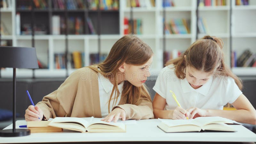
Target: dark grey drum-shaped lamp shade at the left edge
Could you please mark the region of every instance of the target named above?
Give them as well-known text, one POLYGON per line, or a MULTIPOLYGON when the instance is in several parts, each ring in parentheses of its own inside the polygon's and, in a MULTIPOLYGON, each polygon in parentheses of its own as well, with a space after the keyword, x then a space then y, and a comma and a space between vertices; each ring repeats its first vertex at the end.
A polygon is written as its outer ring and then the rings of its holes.
POLYGON ((38 68, 36 49, 33 47, 0 46, 0 67, 38 68))

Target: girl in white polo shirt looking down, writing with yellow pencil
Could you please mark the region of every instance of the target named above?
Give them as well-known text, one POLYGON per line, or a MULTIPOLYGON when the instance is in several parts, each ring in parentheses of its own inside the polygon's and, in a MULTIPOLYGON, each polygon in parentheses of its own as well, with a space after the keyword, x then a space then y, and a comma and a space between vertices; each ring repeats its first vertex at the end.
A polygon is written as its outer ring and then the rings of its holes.
POLYGON ((166 63, 153 87, 155 118, 221 116, 256 124, 256 110, 241 92, 241 80, 225 65, 222 48, 220 38, 204 36, 177 59, 166 63), (170 90, 181 107, 177 106, 170 90), (227 103, 236 110, 223 110, 227 103))

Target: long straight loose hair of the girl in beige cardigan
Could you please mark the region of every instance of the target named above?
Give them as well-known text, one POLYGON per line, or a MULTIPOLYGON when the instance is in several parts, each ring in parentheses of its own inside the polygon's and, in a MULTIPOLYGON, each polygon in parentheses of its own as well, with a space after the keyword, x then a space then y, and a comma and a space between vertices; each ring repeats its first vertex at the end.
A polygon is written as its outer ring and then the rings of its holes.
MULTIPOLYGON (((114 86, 108 101, 108 112, 110 112, 110 101, 112 99, 113 93, 115 92, 114 100, 117 100, 120 92, 118 90, 117 83, 117 73, 119 72, 119 67, 123 64, 131 65, 143 65, 145 64, 153 55, 152 49, 143 42, 140 38, 133 35, 126 35, 121 37, 112 46, 108 57, 101 63, 97 64, 97 68, 89 66, 89 68, 101 73, 108 79, 114 81, 114 86)), ((123 86, 123 91, 121 96, 127 97, 127 104, 136 104, 140 97, 146 97, 151 100, 145 85, 141 87, 136 87, 130 82, 125 81, 123 86)), ((114 105, 114 102, 113 102, 114 105)))

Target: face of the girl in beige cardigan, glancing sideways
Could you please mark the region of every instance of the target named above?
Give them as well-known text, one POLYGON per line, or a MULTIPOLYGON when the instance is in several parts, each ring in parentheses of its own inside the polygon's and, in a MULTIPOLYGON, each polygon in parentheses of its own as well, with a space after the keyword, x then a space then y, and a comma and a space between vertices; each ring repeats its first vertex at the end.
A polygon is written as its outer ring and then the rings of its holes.
POLYGON ((125 80, 130 82, 136 87, 142 86, 146 82, 148 76, 150 76, 150 68, 153 61, 153 56, 143 65, 135 66, 124 63, 125 80))

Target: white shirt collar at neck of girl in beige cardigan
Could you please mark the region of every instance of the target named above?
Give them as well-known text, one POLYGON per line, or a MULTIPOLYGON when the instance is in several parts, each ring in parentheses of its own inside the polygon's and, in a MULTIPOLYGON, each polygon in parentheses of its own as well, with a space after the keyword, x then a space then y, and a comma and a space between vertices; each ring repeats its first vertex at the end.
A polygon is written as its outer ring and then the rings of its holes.
MULTIPOLYGON (((105 76, 103 76, 100 73, 98 73, 98 74, 99 74, 98 81, 102 85, 102 87, 105 90, 105 92, 109 93, 110 91, 112 91, 114 85, 109 81, 108 78, 106 78, 105 76)), ((120 84, 118 84, 117 87, 118 87, 119 92, 121 92, 123 90, 123 86, 124 86, 124 81, 121 82, 120 84)))

